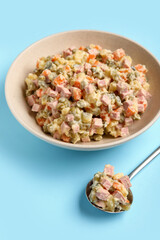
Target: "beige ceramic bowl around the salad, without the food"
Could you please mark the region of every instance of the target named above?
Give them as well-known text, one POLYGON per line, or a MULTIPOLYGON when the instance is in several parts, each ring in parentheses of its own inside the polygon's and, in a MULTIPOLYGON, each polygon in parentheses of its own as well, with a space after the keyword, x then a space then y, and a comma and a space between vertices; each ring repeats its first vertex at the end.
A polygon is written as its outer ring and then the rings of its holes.
POLYGON ((15 118, 31 133, 37 137, 64 148, 76 150, 98 150, 110 148, 138 136, 147 130, 160 115, 160 64, 156 58, 139 44, 119 35, 101 31, 78 30, 54 34, 46 37, 24 50, 11 65, 5 85, 5 94, 8 106, 15 118), (147 77, 151 85, 152 99, 142 119, 135 121, 130 127, 130 135, 127 137, 106 137, 99 142, 90 143, 65 143, 53 139, 43 133, 37 125, 34 115, 31 113, 24 97, 24 79, 35 68, 36 60, 42 56, 59 53, 70 46, 99 44, 103 48, 115 50, 123 48, 133 59, 133 63, 145 64, 148 68, 147 77))

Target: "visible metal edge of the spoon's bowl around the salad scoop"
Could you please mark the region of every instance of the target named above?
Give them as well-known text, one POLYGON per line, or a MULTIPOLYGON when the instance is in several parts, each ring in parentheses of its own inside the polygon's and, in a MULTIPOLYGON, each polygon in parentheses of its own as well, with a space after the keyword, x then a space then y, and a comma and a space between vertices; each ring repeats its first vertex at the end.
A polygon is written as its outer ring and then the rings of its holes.
MULTIPOLYGON (((90 204, 92 204, 92 206, 93 207, 95 207, 95 208, 97 208, 97 209, 99 209, 99 210, 101 210, 101 211, 103 211, 103 212, 107 212, 107 213, 121 213, 121 212, 125 212, 125 211, 116 211, 116 212, 111 212, 111 211, 107 211, 107 210, 104 210, 103 208, 101 208, 101 207, 98 207, 98 206, 96 206, 94 203, 92 203, 91 201, 90 201, 90 199, 89 199, 89 194, 90 194, 90 192, 91 192, 91 190, 92 190, 92 184, 93 184, 93 179, 91 180, 91 181, 89 181, 89 183, 87 184, 87 187, 86 187, 86 197, 87 197, 87 199, 88 199, 88 201, 90 202, 90 204)), ((127 196, 127 198, 128 198, 128 200, 130 201, 130 204, 132 204, 132 202, 133 202, 133 194, 132 194, 132 191, 130 190, 130 188, 129 188, 129 190, 128 190, 128 196, 127 196)))

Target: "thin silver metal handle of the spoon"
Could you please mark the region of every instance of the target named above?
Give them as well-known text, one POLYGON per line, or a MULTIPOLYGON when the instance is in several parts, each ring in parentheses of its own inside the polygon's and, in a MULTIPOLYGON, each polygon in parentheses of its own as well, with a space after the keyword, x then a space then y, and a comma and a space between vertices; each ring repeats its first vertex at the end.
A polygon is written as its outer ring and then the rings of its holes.
POLYGON ((158 147, 149 157, 147 157, 141 164, 138 165, 128 176, 130 180, 139 173, 148 163, 150 163, 158 154, 160 154, 160 147, 158 147))

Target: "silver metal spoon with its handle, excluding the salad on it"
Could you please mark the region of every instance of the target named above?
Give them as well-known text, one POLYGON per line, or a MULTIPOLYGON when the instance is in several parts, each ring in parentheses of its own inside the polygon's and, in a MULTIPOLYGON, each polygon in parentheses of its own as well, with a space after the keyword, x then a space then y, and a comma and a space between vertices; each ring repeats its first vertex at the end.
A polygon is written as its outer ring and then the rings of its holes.
MULTIPOLYGON (((151 153, 151 155, 149 155, 149 157, 147 157, 141 164, 138 165, 138 167, 136 167, 129 175, 129 179, 131 180, 135 175, 137 175, 137 173, 139 173, 148 163, 150 163, 158 154, 160 154, 160 147, 158 147, 153 153, 151 153)), ((92 203, 89 199, 89 194, 92 190, 91 186, 93 183, 93 179, 87 184, 86 187, 86 197, 88 199, 88 201, 92 204, 92 206, 98 208, 99 210, 103 211, 103 212, 107 212, 107 213, 121 213, 124 212, 123 210, 121 211, 116 211, 116 212, 110 212, 107 210, 103 210, 101 207, 96 206, 94 203, 92 203)), ((132 204, 133 202, 133 194, 132 191, 129 189, 128 191, 128 196, 127 196, 128 200, 130 201, 130 203, 132 204)))

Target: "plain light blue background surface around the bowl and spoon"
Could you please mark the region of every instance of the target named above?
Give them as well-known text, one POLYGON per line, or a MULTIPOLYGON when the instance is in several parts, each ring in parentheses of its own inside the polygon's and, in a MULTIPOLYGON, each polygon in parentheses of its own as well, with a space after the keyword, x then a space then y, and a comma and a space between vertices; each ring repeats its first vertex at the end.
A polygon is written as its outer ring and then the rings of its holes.
POLYGON ((109 150, 77 152, 49 145, 12 116, 7 71, 31 43, 73 29, 131 38, 160 59, 157 1, 3 1, 0 14, 0 240, 150 239, 159 234, 160 156, 132 181, 130 211, 105 214, 84 190, 106 163, 128 174, 159 145, 160 120, 141 136, 109 150), (112 3, 113 2, 113 3, 112 3))

